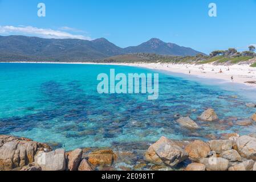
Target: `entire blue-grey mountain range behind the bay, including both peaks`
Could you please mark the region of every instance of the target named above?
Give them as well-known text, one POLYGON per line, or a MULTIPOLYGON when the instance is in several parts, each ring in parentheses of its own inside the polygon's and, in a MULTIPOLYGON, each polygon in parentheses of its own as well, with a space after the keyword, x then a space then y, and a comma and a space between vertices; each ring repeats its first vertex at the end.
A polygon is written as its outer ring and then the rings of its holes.
POLYGON ((136 47, 120 48, 104 38, 89 41, 0 36, 0 61, 90 61, 128 53, 185 56, 200 52, 159 39, 151 39, 136 47))

